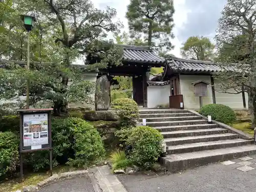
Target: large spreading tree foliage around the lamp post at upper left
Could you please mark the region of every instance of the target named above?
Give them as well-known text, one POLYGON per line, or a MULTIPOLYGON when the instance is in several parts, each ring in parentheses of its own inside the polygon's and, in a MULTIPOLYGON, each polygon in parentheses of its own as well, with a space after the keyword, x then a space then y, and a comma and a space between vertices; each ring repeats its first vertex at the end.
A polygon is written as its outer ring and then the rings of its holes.
MULTIPOLYGON (((67 112, 70 102, 90 102, 94 84, 84 80, 83 70, 105 68, 109 62, 120 63, 121 51, 112 40, 106 40, 108 32, 117 32, 121 26, 112 22, 116 15, 114 9, 98 10, 84 0, 17 1, 6 7, 8 9, 0 8, 0 15, 10 9, 7 12, 12 17, 0 18, 5 24, 1 28, 4 31, 0 29, 6 46, 0 48, 2 58, 22 60, 25 61, 21 62, 23 66, 26 64, 27 37, 19 14, 35 15, 37 22, 30 32, 31 70, 10 63, 12 73, 0 71, 4 99, 25 96, 29 80, 30 105, 47 102, 53 106, 55 114, 67 112), (96 65, 85 65, 83 70, 72 65, 78 57, 90 59, 93 55, 99 57, 96 65)), ((23 100, 18 104, 25 106, 23 100)))

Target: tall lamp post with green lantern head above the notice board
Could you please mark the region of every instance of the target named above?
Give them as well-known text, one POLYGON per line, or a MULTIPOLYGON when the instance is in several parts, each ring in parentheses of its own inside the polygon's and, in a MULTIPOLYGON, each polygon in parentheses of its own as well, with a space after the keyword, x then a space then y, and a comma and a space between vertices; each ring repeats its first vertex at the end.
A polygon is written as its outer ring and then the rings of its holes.
MULTIPOLYGON (((28 32, 28 42, 27 42, 27 70, 29 70, 29 62, 30 62, 30 50, 29 50, 29 32, 33 29, 35 17, 29 15, 20 15, 20 18, 23 20, 23 24, 25 29, 28 32)), ((26 89, 26 103, 27 109, 29 109, 29 79, 27 79, 27 89, 26 89)))

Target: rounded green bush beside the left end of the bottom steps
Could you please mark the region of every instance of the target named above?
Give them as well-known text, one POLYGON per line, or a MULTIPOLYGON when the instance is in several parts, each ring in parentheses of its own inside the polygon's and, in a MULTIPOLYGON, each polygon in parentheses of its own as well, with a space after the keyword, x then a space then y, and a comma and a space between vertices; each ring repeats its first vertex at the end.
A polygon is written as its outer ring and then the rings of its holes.
POLYGON ((130 159, 143 168, 150 167, 161 154, 163 136, 149 126, 139 126, 133 129, 126 144, 132 145, 130 159))

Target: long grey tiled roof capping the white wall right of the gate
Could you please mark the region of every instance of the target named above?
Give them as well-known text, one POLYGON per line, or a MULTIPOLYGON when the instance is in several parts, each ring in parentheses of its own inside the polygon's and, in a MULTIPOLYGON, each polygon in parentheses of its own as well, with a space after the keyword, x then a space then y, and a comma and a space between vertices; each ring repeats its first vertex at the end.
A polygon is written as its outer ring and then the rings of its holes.
MULTIPOLYGON (((214 73, 224 70, 224 67, 220 63, 214 63, 211 61, 182 59, 177 57, 171 57, 168 60, 170 69, 178 72, 194 72, 194 73, 214 73)), ((226 66, 225 70, 234 70, 232 66, 226 66)))

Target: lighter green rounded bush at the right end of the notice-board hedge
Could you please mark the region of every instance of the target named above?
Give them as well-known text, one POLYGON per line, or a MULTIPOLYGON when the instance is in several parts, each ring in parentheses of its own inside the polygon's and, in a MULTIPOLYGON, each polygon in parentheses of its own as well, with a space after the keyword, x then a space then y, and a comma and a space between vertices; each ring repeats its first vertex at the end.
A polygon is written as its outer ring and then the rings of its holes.
POLYGON ((71 118, 69 127, 74 131, 75 157, 70 158, 69 164, 73 166, 86 166, 97 162, 105 156, 104 145, 95 127, 89 122, 79 118, 71 118))

